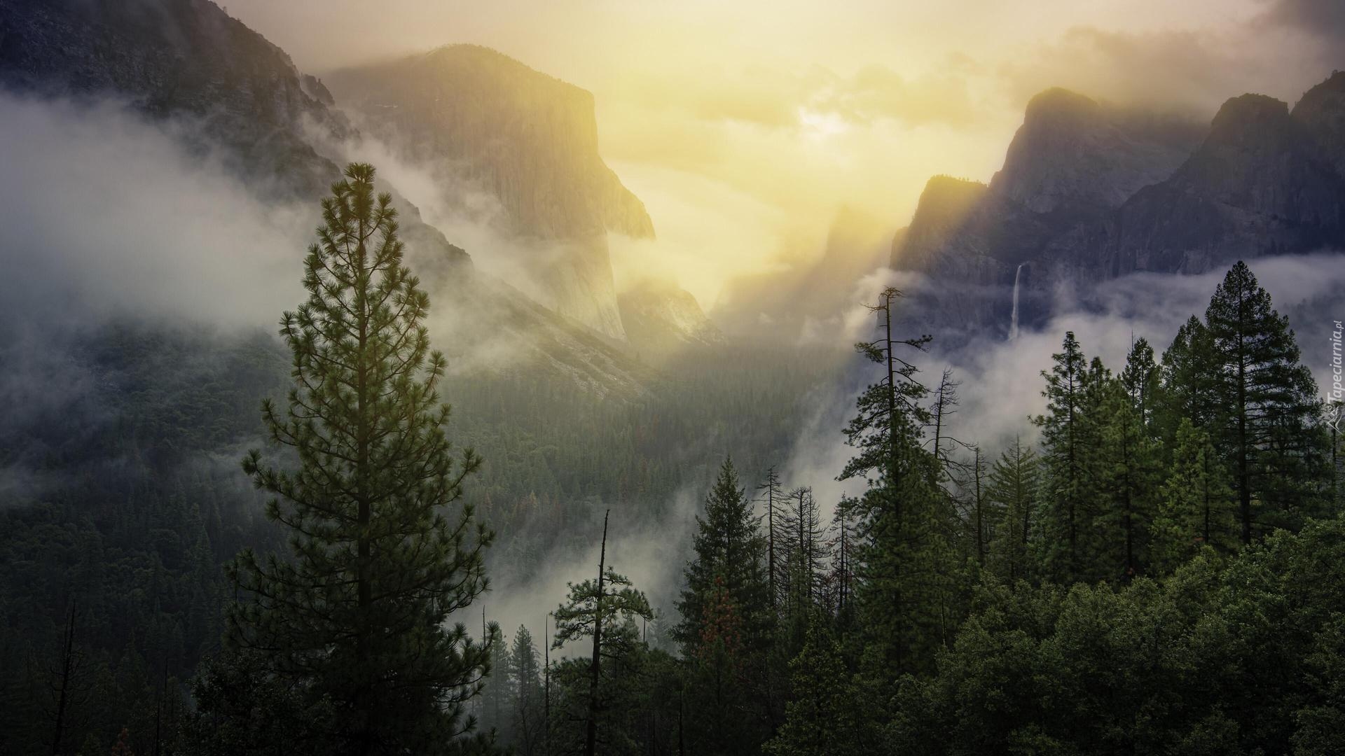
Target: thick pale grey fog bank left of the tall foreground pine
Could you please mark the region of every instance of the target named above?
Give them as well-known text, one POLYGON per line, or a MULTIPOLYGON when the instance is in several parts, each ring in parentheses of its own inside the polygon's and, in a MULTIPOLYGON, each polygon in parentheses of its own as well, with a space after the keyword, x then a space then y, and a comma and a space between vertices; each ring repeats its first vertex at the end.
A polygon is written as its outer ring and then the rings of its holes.
POLYGON ((316 214, 253 199, 175 128, 0 96, 0 308, 269 326, 299 301, 316 214))

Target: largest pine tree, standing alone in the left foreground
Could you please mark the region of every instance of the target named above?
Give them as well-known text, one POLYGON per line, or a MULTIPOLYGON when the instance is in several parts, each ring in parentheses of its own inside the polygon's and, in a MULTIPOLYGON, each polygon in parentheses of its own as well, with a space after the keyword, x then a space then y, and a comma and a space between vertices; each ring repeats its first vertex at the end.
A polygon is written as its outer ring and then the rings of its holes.
POLYGON ((243 460, 274 496, 266 515, 291 531, 292 558, 239 554, 230 574, 246 600, 229 639, 335 706, 338 752, 449 752, 473 726, 464 705, 488 666, 488 650, 448 624, 486 589, 491 534, 459 503, 479 459, 468 449, 455 464, 444 434, 445 362, 391 198, 375 196, 370 165, 344 175, 304 261, 308 301, 281 320, 288 410, 264 402, 299 467, 243 460))

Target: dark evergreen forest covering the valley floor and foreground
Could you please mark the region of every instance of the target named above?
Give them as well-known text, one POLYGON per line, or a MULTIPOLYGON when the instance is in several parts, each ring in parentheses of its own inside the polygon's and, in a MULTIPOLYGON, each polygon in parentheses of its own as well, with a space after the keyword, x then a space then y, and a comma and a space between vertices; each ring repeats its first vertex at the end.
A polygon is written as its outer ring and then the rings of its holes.
POLYGON ((621 404, 447 377, 373 187, 323 202, 282 343, 73 335, 83 404, 5 425, 0 461, 69 480, 0 510, 0 751, 1345 752, 1338 408, 1245 264, 1161 351, 1064 334, 1006 448, 950 430, 884 291, 827 502, 780 465, 833 354, 621 404), (659 607, 609 533, 689 479, 659 607), (594 547, 542 632, 482 616, 594 547))

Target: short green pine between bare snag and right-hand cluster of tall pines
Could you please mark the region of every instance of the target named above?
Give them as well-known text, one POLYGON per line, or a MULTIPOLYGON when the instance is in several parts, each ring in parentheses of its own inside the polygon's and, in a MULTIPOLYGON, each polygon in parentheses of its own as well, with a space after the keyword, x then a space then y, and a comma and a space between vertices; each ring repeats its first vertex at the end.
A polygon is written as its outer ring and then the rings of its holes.
POLYGON ((990 468, 987 498, 1003 513, 1001 526, 990 542, 990 566, 1002 580, 1015 582, 1032 577, 1029 538, 1037 500, 1040 463, 1032 447, 1014 437, 990 468))

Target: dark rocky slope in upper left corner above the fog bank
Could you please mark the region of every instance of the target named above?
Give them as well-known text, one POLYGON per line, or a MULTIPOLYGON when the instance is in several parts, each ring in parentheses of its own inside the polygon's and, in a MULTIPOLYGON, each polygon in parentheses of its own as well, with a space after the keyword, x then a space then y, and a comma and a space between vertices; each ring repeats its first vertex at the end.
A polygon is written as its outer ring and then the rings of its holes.
POLYGON ((0 0, 0 82, 35 96, 114 96, 152 117, 199 120, 239 174, 317 195, 339 175, 303 137, 350 133, 331 94, 207 0, 0 0))

